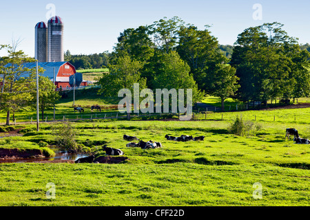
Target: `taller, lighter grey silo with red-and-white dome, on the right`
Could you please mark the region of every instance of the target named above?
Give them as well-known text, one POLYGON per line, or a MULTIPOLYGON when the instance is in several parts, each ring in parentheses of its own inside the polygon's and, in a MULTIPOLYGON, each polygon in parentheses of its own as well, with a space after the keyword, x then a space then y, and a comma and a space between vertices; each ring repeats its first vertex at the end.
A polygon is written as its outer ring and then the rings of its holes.
POLYGON ((63 62, 63 22, 58 16, 48 20, 48 62, 63 62))

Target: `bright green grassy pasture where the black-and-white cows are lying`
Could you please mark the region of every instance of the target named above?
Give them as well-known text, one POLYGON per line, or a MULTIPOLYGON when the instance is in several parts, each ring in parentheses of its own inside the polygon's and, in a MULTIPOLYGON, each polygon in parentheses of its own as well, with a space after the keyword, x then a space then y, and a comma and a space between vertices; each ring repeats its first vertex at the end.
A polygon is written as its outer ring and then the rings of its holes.
MULTIPOLYGON (((236 114, 227 113, 223 120, 222 113, 209 113, 208 120, 195 121, 75 122, 76 141, 96 157, 104 154, 105 143, 120 148, 128 159, 121 164, 0 164, 0 205, 309 206, 309 145, 285 140, 285 128, 309 135, 310 109, 244 111, 244 120, 257 115, 261 127, 249 137, 227 131, 236 114), (292 120, 296 114, 302 118, 292 120), (161 142, 163 148, 127 148, 123 134, 161 142), (172 142, 166 134, 205 135, 205 141, 172 142), (55 184, 56 199, 45 196, 49 182, 55 184), (262 186, 262 199, 254 199, 256 183, 262 186)), ((41 124, 39 133, 30 129, 23 137, 6 137, 1 143, 53 144, 54 126, 61 124, 41 124)))

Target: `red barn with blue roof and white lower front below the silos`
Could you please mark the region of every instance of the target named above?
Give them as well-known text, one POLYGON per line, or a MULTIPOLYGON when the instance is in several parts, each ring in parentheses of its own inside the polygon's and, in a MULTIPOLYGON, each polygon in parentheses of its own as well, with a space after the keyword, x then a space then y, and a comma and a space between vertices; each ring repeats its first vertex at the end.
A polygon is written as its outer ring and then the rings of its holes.
MULTIPOLYGON (((45 70, 42 76, 54 81, 58 90, 71 89, 74 78, 76 87, 87 86, 87 81, 83 80, 82 74, 76 73, 75 67, 69 62, 39 62, 38 66, 45 70)), ((32 69, 37 67, 37 63, 25 63, 23 67, 32 69)), ((27 77, 27 74, 24 74, 23 77, 27 77)))

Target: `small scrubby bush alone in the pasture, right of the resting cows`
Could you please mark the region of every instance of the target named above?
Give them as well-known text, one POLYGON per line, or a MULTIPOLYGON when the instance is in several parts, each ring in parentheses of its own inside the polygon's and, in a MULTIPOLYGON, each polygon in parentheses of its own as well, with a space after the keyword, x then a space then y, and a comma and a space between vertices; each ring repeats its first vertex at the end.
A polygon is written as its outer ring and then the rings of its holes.
POLYGON ((260 129, 260 124, 255 124, 251 120, 243 121, 242 118, 238 116, 234 123, 230 124, 228 127, 229 133, 239 136, 254 135, 260 129))

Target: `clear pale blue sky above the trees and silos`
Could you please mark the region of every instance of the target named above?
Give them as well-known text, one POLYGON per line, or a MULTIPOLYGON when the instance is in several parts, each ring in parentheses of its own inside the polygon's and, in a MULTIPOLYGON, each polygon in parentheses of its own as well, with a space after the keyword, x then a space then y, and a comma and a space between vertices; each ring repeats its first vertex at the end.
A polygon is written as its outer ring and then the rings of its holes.
MULTIPOLYGON (((112 52, 123 30, 174 16, 199 29, 211 25, 211 34, 223 45, 234 44, 246 28, 273 21, 283 23, 289 36, 297 37, 299 43, 310 43, 309 0, 0 0, 0 44, 20 38, 18 49, 34 56, 34 26, 48 21, 49 3, 63 19, 64 50, 71 54, 112 52), (252 17, 255 3, 262 5, 262 20, 252 17)), ((0 56, 5 54, 0 51, 0 56)))

